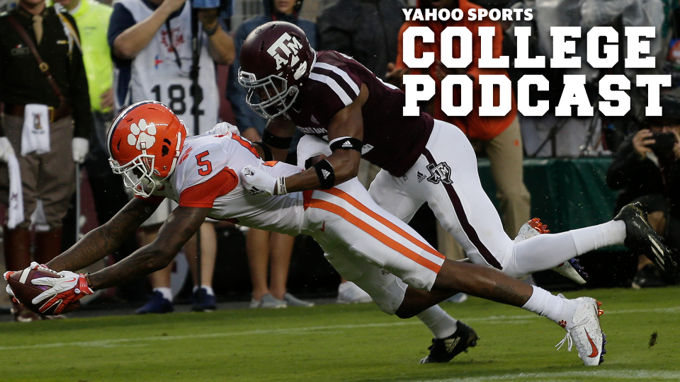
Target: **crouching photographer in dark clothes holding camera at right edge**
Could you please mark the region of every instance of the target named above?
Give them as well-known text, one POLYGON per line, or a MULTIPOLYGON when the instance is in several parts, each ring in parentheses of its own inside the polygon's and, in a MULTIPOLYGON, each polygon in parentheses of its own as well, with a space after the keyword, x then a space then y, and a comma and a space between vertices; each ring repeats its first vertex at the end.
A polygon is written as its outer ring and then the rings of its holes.
MULTIPOLYGON (((680 98, 661 95, 662 117, 646 117, 645 126, 630 135, 614 155, 607 185, 621 190, 614 214, 640 202, 652 227, 669 248, 680 248, 680 98)), ((640 255, 633 288, 664 287, 657 267, 640 255)))

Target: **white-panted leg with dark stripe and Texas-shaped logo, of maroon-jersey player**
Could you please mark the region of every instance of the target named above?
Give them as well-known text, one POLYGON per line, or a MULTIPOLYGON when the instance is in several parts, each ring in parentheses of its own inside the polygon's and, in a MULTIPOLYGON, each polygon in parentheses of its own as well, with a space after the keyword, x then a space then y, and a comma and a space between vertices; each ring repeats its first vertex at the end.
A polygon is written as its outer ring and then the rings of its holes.
MULTIPOLYGON (((463 246, 472 262, 492 265, 513 277, 554 267, 589 250, 622 244, 626 237, 623 221, 609 221, 513 243, 482 189, 472 147, 458 128, 446 122, 435 122, 424 156, 407 173, 409 180, 416 171, 429 174, 423 182, 426 184, 404 180, 401 186, 427 199, 442 226, 463 246)), ((641 223, 640 216, 629 215, 625 219, 633 221, 630 226, 641 223)))

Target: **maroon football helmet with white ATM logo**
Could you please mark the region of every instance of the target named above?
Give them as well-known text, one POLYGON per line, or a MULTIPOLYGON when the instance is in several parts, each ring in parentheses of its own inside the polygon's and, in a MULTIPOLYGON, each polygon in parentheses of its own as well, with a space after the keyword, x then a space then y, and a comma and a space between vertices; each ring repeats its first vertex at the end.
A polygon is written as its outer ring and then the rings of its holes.
POLYGON ((253 30, 241 48, 239 83, 246 103, 265 118, 278 117, 295 102, 316 54, 302 29, 271 21, 253 30))

